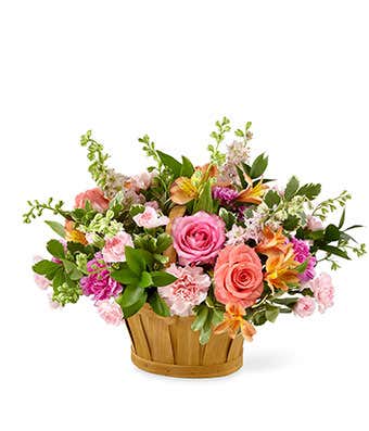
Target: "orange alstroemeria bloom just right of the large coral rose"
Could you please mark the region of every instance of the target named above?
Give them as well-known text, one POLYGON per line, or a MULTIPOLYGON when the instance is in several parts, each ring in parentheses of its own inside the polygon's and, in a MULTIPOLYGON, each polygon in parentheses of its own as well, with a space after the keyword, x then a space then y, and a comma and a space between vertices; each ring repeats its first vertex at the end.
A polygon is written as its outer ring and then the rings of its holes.
POLYGON ((298 283, 296 268, 300 265, 301 263, 294 259, 293 246, 290 243, 285 253, 277 252, 268 256, 264 279, 272 292, 275 292, 275 289, 287 291, 290 284, 298 283))

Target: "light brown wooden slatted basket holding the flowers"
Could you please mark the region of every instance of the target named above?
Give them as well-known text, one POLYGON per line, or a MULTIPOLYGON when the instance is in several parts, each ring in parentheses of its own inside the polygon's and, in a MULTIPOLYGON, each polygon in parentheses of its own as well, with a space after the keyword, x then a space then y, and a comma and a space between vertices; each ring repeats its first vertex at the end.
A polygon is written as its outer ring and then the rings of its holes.
POLYGON ((242 367, 243 338, 227 333, 199 343, 191 330, 193 317, 161 317, 149 304, 126 319, 132 342, 132 363, 144 371, 171 377, 218 377, 242 367))

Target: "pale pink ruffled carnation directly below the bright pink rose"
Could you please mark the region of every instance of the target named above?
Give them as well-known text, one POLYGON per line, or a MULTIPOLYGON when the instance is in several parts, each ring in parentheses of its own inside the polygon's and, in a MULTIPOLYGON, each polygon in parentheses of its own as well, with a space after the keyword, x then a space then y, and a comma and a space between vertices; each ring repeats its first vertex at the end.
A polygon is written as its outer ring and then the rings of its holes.
POLYGON ((167 272, 177 277, 177 280, 164 288, 157 288, 158 294, 168 304, 171 315, 190 316, 192 307, 206 299, 211 278, 199 266, 182 268, 171 264, 167 272))

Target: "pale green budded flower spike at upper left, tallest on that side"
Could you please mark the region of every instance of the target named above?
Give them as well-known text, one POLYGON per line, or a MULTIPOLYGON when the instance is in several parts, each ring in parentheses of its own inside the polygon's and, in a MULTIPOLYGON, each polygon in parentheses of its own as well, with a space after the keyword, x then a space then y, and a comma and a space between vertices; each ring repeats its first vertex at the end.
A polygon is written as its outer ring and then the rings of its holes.
POLYGON ((92 139, 91 135, 91 130, 87 130, 87 132, 80 137, 80 144, 82 147, 87 147, 87 159, 90 161, 90 165, 88 167, 89 173, 97 185, 104 188, 107 175, 107 166, 105 162, 110 155, 104 153, 104 147, 92 139))

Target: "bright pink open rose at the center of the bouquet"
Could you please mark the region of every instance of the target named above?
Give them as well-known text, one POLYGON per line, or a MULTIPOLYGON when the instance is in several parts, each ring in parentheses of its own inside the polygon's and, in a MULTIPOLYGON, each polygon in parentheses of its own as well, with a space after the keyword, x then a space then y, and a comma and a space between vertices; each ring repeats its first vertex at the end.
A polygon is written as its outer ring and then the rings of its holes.
POLYGON ((175 218, 171 236, 180 265, 213 263, 226 241, 225 223, 215 214, 200 211, 175 218))

